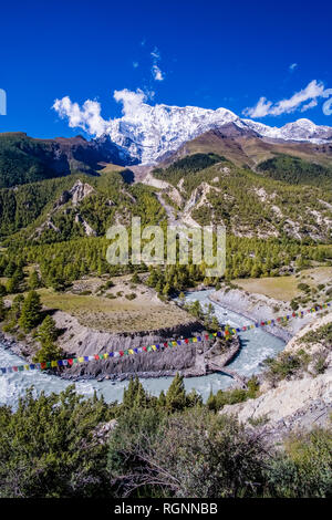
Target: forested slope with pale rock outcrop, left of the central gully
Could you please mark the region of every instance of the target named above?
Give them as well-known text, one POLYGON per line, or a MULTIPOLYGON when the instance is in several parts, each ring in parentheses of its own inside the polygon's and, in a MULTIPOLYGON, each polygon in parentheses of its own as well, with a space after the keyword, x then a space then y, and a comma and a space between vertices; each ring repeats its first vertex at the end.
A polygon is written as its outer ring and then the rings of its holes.
POLYGON ((0 189, 0 238, 6 243, 105 236, 112 223, 129 225, 132 215, 148 223, 165 218, 151 187, 128 184, 126 170, 111 166, 100 176, 77 173, 0 189))

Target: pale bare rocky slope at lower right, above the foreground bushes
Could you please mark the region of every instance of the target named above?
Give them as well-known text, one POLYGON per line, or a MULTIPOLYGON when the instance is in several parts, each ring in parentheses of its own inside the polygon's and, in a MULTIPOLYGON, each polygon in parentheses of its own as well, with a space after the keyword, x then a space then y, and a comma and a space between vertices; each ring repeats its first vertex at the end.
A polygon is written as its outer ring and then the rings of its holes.
MULTIPOLYGON (((289 355, 304 351, 311 355, 325 355, 325 371, 313 375, 309 364, 302 377, 281 381, 276 388, 261 386, 262 394, 237 405, 228 405, 221 414, 235 414, 241 423, 266 424, 263 428, 271 438, 280 438, 290 431, 312 429, 314 426, 331 426, 332 414, 332 344, 331 341, 311 342, 308 333, 318 333, 332 323, 332 314, 319 318, 304 326, 286 346, 289 355)), ((319 337, 319 336, 318 336, 319 337)))

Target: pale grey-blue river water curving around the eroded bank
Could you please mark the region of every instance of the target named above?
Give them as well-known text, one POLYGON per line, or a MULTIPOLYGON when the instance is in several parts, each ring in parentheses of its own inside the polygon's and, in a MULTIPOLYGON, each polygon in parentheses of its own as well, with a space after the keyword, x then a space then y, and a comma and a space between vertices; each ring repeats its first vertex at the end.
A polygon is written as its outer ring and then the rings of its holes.
MULTIPOLYGON (((200 303, 204 305, 209 302, 209 293, 210 291, 196 291, 194 293, 190 292, 190 294, 188 294, 186 299, 187 301, 199 300, 200 303)), ((224 313, 220 312, 219 306, 215 306, 216 316, 218 318, 219 323, 225 323, 224 313)), ((231 315, 231 313, 229 313, 228 318, 231 318, 234 326, 242 326, 246 323, 246 319, 238 314, 231 315)), ((68 322, 66 325, 70 326, 70 322, 68 322)), ((73 330, 69 330, 66 333, 68 337, 70 337, 72 333, 73 330)), ((279 340, 276 336, 267 333, 263 329, 240 332, 239 339, 241 341, 241 349, 239 350, 237 355, 232 360, 230 360, 229 364, 227 365, 227 368, 236 372, 246 379, 252 377, 252 375, 257 375, 258 377, 260 377, 260 374, 262 373, 261 362, 267 357, 274 357, 278 352, 281 352, 284 349, 284 342, 282 342, 282 340, 279 340)), ((81 339, 76 340, 81 341, 81 339)), ((76 340, 75 337, 72 337, 70 340, 72 342, 72 346, 75 345, 76 340)), ((94 337, 90 337, 90 340, 94 340, 94 337)), ((12 352, 11 347, 13 346, 13 339, 11 337, 9 339, 9 341, 10 344, 7 344, 7 350, 2 349, 0 345, 0 366, 14 366, 20 364, 27 364, 27 358, 22 360, 22 357, 18 357, 18 355, 12 352)), ((145 344, 148 345, 154 343, 148 342, 145 344)), ((100 346, 101 345, 102 343, 100 344, 100 346)), ((200 343, 194 343, 194 345, 197 345, 197 347, 199 347, 200 343)), ((173 351, 176 349, 183 350, 183 352, 187 351, 188 346, 189 345, 172 347, 169 349, 169 355, 173 356, 173 351)), ((160 354, 162 353, 159 352, 149 352, 142 355, 145 355, 147 360, 151 360, 152 357, 157 358, 160 354)), ((127 362, 128 360, 133 360, 134 357, 134 355, 125 356, 127 362)), ((132 366, 129 366, 129 370, 132 370, 132 366)), ((146 371, 139 371, 139 375, 143 375, 141 382, 144 388, 152 395, 158 396, 162 391, 167 392, 169 385, 172 384, 173 375, 167 376, 167 372, 164 372, 164 374, 166 374, 165 376, 162 376, 162 373, 159 374, 159 377, 155 377, 155 371, 151 371, 149 368, 147 368, 146 371), (142 372, 145 373, 142 374, 142 372)), ((10 406, 17 406, 19 397, 23 396, 25 391, 32 385, 34 386, 37 394, 40 394, 41 392, 50 394, 51 392, 59 393, 62 389, 66 388, 70 384, 75 384, 76 391, 81 395, 92 396, 94 392, 97 392, 98 395, 104 396, 107 403, 113 403, 114 401, 121 402, 123 398, 123 391, 127 385, 127 376, 132 375, 132 372, 127 373, 126 375, 115 374, 116 379, 110 381, 111 374, 98 374, 97 376, 87 374, 73 374, 73 377, 71 379, 64 379, 59 375, 55 376, 54 374, 50 372, 46 373, 45 371, 10 372, 3 374, 0 377, 0 403, 8 404, 10 406), (120 381, 123 377, 126 378, 120 381)), ((187 377, 185 377, 184 383, 187 392, 191 392, 195 389, 196 392, 198 392, 199 395, 201 395, 205 402, 208 399, 211 392, 216 394, 218 391, 226 391, 231 388, 235 383, 237 385, 239 384, 238 382, 235 382, 234 378, 229 376, 229 374, 226 374, 226 371, 216 371, 214 373, 209 373, 208 375, 198 377, 195 377, 194 374, 193 376, 187 374, 187 377)))

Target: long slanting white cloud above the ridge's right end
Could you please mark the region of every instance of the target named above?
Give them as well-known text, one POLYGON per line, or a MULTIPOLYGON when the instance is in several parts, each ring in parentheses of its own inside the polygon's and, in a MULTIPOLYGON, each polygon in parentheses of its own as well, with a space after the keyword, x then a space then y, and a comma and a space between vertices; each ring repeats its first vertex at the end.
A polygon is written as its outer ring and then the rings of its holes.
POLYGON ((247 107, 242 111, 242 114, 250 117, 266 117, 267 115, 281 115, 290 114, 297 110, 302 112, 317 106, 318 97, 325 97, 325 87, 323 83, 319 83, 315 80, 310 82, 305 89, 302 89, 299 92, 295 92, 288 100, 281 100, 277 103, 268 101, 266 97, 260 97, 258 103, 252 107, 247 107), (302 103, 307 103, 302 105, 302 103), (301 106, 302 105, 302 106, 301 106))

